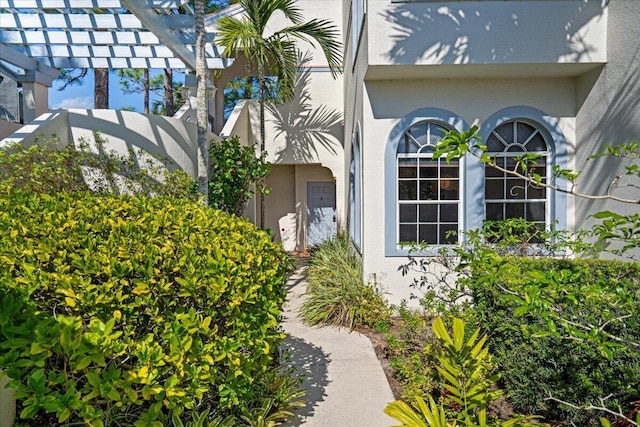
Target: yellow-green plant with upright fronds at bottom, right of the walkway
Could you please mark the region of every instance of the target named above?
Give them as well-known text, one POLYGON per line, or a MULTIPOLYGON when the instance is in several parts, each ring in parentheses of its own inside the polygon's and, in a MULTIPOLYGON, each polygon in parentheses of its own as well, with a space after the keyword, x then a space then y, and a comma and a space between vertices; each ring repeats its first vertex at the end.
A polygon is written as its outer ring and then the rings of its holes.
POLYGON ((489 404, 503 392, 494 388, 498 376, 491 374, 492 356, 484 346, 486 335, 478 338, 480 329, 476 329, 465 340, 464 321, 459 318, 453 319, 453 335, 449 335, 440 317, 434 320, 432 328, 442 346, 437 370, 443 379, 440 383, 443 396, 440 404, 431 396, 429 404, 416 397, 415 409, 402 401, 389 404, 385 413, 402 422, 401 427, 546 425, 533 421, 538 417, 527 415, 516 415, 507 421, 490 420, 489 404))

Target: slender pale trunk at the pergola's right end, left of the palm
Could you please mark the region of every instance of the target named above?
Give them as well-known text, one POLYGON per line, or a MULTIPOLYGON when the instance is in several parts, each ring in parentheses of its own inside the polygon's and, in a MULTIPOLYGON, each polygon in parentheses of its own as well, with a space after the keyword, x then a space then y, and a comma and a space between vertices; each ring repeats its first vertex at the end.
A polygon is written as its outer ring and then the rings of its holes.
POLYGON ((207 146, 207 64, 204 55, 204 0, 195 1, 196 13, 196 99, 198 123, 198 189, 203 203, 209 203, 209 147, 207 146))

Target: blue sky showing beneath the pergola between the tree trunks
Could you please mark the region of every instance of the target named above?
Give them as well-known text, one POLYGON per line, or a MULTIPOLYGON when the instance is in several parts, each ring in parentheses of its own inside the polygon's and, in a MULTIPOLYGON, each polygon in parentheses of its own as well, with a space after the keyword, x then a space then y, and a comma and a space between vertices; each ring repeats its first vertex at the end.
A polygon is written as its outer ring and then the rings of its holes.
MULTIPOLYGON (((162 73, 162 70, 151 70, 151 76, 162 73)), ((174 72, 175 81, 183 81, 184 74, 174 72)), ((53 86, 49 88, 49 108, 93 108, 93 70, 89 70, 84 78, 82 85, 69 86, 63 91, 58 88, 62 86, 61 82, 54 81, 53 86)), ((160 97, 151 94, 150 105, 153 105, 154 99, 160 97)), ((135 111, 143 111, 142 94, 123 94, 120 90, 120 79, 115 71, 109 73, 109 108, 118 110, 126 107, 134 107, 135 111)), ((151 108, 151 107, 149 107, 151 108)))

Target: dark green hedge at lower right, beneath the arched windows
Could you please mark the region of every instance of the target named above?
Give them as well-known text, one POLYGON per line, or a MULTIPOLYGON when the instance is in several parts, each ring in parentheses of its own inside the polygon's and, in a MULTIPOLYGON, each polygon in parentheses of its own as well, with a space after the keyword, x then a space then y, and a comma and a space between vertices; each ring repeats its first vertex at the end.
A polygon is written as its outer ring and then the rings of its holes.
POLYGON ((554 326, 548 318, 536 310, 514 316, 517 305, 509 295, 523 294, 527 286, 536 283, 540 298, 553 300, 554 309, 564 318, 598 325, 607 318, 627 316, 609 323, 605 330, 637 343, 640 264, 508 257, 477 266, 466 283, 473 292, 474 317, 489 334, 502 386, 516 411, 541 413, 547 420, 564 420, 564 425, 598 425, 602 412, 576 411, 547 398, 551 395, 584 406, 599 405, 600 397, 610 396, 607 404, 615 410, 618 403, 629 410, 628 404, 640 398, 640 353, 636 348, 623 345, 609 359, 593 344, 597 336, 591 336, 588 343, 570 339, 562 330, 545 334, 554 326))

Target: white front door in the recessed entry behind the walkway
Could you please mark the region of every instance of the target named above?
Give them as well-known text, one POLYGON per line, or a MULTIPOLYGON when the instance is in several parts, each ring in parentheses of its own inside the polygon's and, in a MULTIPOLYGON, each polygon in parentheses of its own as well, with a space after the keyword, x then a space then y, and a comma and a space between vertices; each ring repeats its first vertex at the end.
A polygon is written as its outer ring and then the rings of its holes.
POLYGON ((336 235, 336 185, 307 183, 307 246, 318 245, 336 235))

